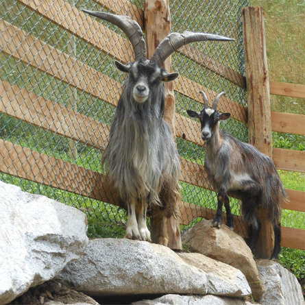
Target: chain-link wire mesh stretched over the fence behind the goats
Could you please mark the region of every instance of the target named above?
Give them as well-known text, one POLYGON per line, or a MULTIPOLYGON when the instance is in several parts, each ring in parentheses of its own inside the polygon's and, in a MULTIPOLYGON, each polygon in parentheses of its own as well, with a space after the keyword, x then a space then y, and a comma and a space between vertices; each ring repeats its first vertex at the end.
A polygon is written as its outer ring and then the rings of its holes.
MULTIPOLYGON (((180 73, 174 84, 178 114, 186 116, 186 109, 202 109, 198 88, 208 88, 215 94, 225 91, 225 99, 246 106, 245 90, 220 74, 230 68, 244 75, 241 17, 248 2, 170 1, 172 32, 209 32, 236 40, 197 42, 173 54, 173 71, 180 73), (190 59, 198 54, 199 59, 190 59)), ((121 236, 125 211, 99 200, 92 190, 99 188, 97 177, 103 173, 101 148, 125 77, 115 69, 114 58, 130 62, 132 52, 120 29, 83 17, 80 10, 103 10, 140 19, 143 2, 0 0, 0 3, 3 8, 0 179, 21 186, 23 191, 80 208, 89 216, 89 234, 121 236)), ((243 117, 243 113, 236 113, 238 109, 242 108, 221 108, 232 112, 234 118, 243 117)), ((222 127, 247 142, 245 123, 234 118, 222 127)), ((184 134, 189 128, 192 127, 184 120, 177 134, 184 134)), ((193 132, 196 136, 197 130, 193 132)), ((181 179, 183 202, 199 207, 186 215, 184 222, 193 225, 206 211, 215 211, 217 197, 202 187, 206 183, 204 177, 192 181, 191 172, 204 164, 204 149, 183 136, 177 137, 177 145, 180 156, 194 164, 193 169, 182 171, 181 179)), ((232 212, 240 215, 239 201, 231 202, 232 212)), ((241 232, 241 223, 237 221, 235 226, 241 232)))

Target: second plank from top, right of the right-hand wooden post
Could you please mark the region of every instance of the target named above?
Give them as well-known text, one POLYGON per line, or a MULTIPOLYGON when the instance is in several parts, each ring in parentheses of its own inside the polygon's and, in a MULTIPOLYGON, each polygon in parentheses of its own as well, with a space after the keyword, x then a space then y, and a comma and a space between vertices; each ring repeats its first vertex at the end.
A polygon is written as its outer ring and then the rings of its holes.
POLYGON ((271 111, 273 132, 305 134, 305 115, 271 111))

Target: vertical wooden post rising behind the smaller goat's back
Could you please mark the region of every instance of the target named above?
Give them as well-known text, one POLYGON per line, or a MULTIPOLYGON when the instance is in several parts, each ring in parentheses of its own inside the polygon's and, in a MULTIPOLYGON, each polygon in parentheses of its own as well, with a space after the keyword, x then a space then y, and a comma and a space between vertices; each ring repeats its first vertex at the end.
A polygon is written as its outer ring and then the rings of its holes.
MULTIPOLYGON (((243 9, 245 71, 247 82, 249 143, 271 158, 272 134, 269 75, 265 44, 263 8, 243 9)), ((273 249, 273 228, 261 211, 262 230, 256 245, 256 256, 269 258, 273 249)))

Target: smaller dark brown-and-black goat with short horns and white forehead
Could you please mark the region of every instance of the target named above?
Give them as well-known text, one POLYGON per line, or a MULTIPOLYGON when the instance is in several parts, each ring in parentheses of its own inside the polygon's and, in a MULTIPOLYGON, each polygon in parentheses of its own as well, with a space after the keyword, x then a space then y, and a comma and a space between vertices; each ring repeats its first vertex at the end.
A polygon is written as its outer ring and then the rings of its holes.
POLYGON ((206 94, 199 92, 204 97, 204 108, 200 113, 194 110, 187 110, 187 113, 201 123, 201 136, 206 147, 204 167, 208 179, 218 191, 217 212, 212 226, 220 227, 224 204, 226 225, 232 229, 233 217, 228 196, 240 199, 243 219, 250 225, 249 247, 254 253, 261 228, 258 210, 266 209, 267 220, 273 224, 275 234, 271 258, 277 259, 280 252, 282 203, 288 201, 278 171, 272 160, 254 146, 219 130, 219 121, 230 117, 228 112, 217 111, 219 99, 225 93, 217 95, 212 108, 209 108, 206 94))

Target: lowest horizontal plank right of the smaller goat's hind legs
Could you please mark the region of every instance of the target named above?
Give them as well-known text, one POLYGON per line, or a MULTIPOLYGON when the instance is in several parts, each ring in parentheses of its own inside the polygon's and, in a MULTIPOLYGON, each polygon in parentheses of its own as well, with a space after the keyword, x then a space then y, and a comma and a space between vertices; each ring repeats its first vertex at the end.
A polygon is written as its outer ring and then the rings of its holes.
POLYGON ((282 227, 282 247, 305 250, 305 230, 282 227))

